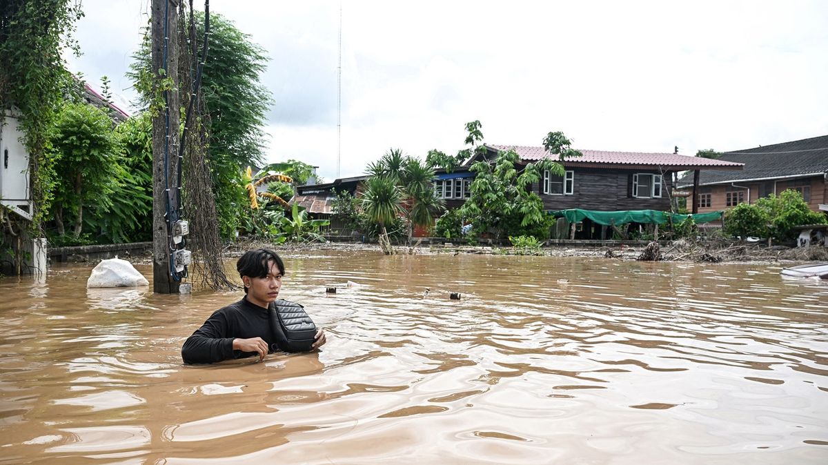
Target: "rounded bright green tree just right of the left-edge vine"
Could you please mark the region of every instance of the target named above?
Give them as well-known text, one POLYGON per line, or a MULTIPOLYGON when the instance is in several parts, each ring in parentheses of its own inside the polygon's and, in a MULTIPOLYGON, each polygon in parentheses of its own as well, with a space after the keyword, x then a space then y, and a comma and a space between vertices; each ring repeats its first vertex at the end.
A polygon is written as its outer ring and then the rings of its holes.
MULTIPOLYGON (((79 239, 84 225, 84 204, 112 206, 113 180, 118 174, 118 141, 108 115, 88 103, 65 103, 52 133, 51 158, 55 178, 55 223, 65 235, 65 219, 74 224, 79 239), (68 211, 67 211, 68 210, 68 211)), ((93 207, 93 208, 94 208, 93 207)))

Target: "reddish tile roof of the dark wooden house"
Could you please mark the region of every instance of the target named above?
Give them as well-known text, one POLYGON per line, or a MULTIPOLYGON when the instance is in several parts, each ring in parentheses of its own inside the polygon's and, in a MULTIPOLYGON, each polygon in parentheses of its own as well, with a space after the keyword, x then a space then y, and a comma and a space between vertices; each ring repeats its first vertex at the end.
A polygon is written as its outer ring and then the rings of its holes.
MULTIPOLYGON (((486 144, 487 147, 498 151, 513 149, 524 161, 537 161, 545 158, 546 150, 542 146, 495 146, 486 144)), ((579 149, 580 150, 580 149, 579 149)), ((664 167, 676 167, 681 169, 689 168, 716 168, 716 169, 740 169, 743 163, 732 161, 715 160, 702 158, 700 156, 686 156, 674 153, 643 153, 634 151, 599 151, 580 150, 584 156, 570 158, 564 161, 564 165, 657 165, 664 167)))

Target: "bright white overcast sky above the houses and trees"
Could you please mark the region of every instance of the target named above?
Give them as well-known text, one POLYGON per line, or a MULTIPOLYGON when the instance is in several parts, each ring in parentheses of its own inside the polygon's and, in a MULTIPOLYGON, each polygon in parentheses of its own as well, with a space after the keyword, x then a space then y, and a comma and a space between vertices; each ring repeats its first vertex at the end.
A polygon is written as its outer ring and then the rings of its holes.
MULTIPOLYGON (((195 1, 203 8, 203 2, 195 1)), ((828 2, 343 1, 339 177, 389 148, 733 151, 828 134, 828 2)), ((213 0, 270 56, 267 161, 337 177, 340 2, 213 0)), ((83 0, 70 70, 124 76, 149 0, 83 0)))

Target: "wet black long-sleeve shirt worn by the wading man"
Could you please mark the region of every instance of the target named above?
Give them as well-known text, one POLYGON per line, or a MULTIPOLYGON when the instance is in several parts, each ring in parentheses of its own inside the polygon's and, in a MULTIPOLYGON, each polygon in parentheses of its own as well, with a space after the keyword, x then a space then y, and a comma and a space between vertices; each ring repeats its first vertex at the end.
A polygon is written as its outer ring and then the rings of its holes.
POLYGON ((181 358, 185 363, 214 363, 258 355, 258 352, 233 350, 235 338, 262 338, 272 353, 277 347, 277 339, 271 328, 269 311, 246 298, 216 310, 187 338, 181 348, 181 358))

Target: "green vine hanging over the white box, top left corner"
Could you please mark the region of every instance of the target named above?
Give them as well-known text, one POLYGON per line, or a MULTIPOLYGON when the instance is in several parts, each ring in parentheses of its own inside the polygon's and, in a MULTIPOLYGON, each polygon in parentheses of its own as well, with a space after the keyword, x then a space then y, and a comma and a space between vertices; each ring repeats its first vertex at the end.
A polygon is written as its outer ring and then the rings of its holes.
POLYGON ((53 162, 50 134, 60 104, 76 84, 61 53, 79 55, 72 38, 84 13, 79 0, 4 0, 0 8, 0 122, 9 112, 19 117, 22 143, 29 152, 32 221, 41 235, 52 200, 53 162))

